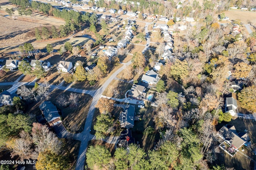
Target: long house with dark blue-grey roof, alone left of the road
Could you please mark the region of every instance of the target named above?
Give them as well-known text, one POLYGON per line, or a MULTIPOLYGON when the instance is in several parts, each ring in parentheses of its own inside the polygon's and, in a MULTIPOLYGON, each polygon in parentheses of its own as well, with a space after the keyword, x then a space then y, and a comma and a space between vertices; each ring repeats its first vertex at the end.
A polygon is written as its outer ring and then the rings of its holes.
POLYGON ((44 101, 39 106, 39 108, 42 111, 44 118, 51 127, 62 122, 58 113, 58 109, 52 104, 51 101, 44 101))

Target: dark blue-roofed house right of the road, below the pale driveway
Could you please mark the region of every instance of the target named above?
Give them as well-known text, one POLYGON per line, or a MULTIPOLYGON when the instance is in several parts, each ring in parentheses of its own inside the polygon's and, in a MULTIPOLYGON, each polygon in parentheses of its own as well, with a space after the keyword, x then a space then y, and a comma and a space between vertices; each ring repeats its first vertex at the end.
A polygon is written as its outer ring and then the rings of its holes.
POLYGON ((120 127, 133 128, 135 118, 135 106, 127 105, 119 116, 120 127))

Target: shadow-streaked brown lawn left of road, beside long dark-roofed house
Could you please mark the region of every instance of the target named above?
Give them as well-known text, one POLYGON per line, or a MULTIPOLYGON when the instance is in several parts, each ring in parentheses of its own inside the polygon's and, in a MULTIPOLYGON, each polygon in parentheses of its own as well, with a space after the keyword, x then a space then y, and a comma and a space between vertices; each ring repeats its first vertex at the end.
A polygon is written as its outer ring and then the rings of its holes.
POLYGON ((71 92, 69 91, 55 90, 51 94, 50 101, 52 101, 52 103, 62 111, 62 122, 67 130, 75 133, 82 132, 82 130, 84 129, 84 123, 86 121, 89 107, 92 103, 92 97, 90 95, 77 93, 78 95, 80 95, 80 97, 78 98, 77 107, 62 107, 56 102, 58 96, 66 95, 68 97, 70 93, 71 92))

